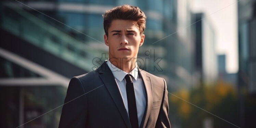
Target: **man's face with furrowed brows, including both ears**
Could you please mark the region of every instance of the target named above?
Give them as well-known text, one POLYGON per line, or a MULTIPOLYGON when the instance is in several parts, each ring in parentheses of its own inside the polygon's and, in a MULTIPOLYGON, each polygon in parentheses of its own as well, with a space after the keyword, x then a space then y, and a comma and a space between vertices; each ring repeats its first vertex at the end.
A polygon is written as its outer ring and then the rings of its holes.
POLYGON ((104 35, 105 44, 109 47, 109 57, 137 58, 139 47, 145 35, 140 35, 136 21, 113 20, 108 28, 108 37, 104 35))

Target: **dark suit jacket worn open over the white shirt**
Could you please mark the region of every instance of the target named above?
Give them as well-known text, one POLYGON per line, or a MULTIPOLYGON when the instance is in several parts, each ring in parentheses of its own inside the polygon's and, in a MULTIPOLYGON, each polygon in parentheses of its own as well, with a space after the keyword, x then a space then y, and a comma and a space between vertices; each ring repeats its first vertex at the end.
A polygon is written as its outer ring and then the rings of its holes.
MULTIPOLYGON (((142 69, 139 74, 146 92, 140 128, 170 128, 165 80, 142 69)), ((131 128, 123 99, 106 61, 95 71, 71 79, 59 128, 131 128)))

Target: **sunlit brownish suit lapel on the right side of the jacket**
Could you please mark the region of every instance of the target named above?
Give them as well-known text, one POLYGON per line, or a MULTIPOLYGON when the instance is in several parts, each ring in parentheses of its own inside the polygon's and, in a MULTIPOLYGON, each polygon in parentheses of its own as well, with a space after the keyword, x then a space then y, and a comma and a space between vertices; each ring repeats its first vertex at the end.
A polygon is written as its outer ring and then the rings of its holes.
POLYGON ((144 115, 140 124, 140 128, 145 128, 150 115, 151 106, 153 103, 153 89, 152 89, 153 87, 152 87, 151 78, 148 75, 146 75, 146 72, 139 68, 138 70, 139 70, 139 74, 142 77, 144 89, 146 92, 146 107, 145 107, 144 115))

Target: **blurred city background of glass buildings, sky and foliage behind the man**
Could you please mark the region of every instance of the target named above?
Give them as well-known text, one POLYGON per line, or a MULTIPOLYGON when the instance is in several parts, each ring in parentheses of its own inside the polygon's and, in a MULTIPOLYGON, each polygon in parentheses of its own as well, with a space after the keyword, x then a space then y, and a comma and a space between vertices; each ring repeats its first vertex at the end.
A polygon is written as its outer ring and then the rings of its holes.
POLYGON ((139 65, 167 81, 172 128, 256 127, 256 0, 3 0, 1 127, 59 125, 69 80, 107 60, 102 14, 123 4, 147 16, 139 65))

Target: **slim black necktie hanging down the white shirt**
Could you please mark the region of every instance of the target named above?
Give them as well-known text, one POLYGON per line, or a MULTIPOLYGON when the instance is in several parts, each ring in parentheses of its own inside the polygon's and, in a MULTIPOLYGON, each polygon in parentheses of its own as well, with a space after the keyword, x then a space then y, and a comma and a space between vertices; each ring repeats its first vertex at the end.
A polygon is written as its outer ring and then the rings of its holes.
POLYGON ((131 127, 132 128, 139 128, 135 93, 134 93, 134 88, 133 88, 131 75, 127 74, 125 76, 125 80, 126 80, 126 94, 127 94, 127 101, 128 101, 129 117, 130 117, 131 127))

